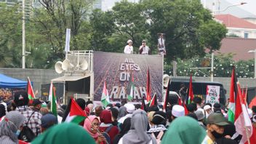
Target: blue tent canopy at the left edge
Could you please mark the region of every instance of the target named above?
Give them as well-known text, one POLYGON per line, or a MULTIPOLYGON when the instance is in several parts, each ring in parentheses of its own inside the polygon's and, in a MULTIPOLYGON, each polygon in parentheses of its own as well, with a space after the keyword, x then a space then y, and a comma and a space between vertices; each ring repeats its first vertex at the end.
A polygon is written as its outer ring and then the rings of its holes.
POLYGON ((21 81, 0 73, 0 88, 20 88, 25 89, 28 81, 21 81))

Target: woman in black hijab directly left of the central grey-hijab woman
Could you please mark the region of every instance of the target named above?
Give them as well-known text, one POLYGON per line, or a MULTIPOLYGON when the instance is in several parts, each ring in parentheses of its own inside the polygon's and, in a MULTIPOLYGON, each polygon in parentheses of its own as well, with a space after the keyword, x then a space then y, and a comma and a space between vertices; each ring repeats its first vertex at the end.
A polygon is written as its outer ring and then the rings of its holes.
POLYGON ((115 139, 113 140, 113 144, 118 144, 121 137, 123 137, 129 129, 131 128, 131 118, 127 118, 124 120, 124 124, 121 125, 121 132, 119 135, 116 135, 115 139))

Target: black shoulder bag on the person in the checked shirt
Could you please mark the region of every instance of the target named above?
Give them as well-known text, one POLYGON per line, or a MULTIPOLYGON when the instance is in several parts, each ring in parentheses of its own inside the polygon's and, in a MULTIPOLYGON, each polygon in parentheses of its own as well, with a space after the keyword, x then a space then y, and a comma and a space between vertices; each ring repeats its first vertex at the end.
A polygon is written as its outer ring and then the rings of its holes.
MULTIPOLYGON (((35 111, 33 111, 33 113, 35 113, 35 111)), ((33 115, 33 113, 31 114, 31 116, 33 115)), ((28 127, 28 122, 31 119, 31 116, 29 116, 28 121, 25 123, 23 129, 20 131, 20 135, 18 136, 19 140, 31 142, 36 137, 31 128, 28 127)))

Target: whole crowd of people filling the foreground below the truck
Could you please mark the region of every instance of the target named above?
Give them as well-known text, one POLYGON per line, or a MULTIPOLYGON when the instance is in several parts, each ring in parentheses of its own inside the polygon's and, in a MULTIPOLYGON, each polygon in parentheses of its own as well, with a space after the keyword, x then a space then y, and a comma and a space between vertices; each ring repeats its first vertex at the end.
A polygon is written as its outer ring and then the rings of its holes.
MULTIPOLYGON (((194 97, 193 103, 141 107, 140 104, 108 104, 106 108, 91 100, 76 99, 86 119, 79 124, 63 122, 67 105, 57 108, 51 103, 34 99, 28 103, 27 92, 16 92, 14 100, 0 104, 0 143, 98 143, 98 144, 156 144, 156 143, 239 143, 241 135, 227 120, 227 108, 219 103, 204 103, 194 97), (187 113, 188 110, 188 113, 187 113), (24 129, 31 129, 24 134, 24 129)), ((254 127, 250 137, 255 142, 256 106, 248 110, 254 127)))

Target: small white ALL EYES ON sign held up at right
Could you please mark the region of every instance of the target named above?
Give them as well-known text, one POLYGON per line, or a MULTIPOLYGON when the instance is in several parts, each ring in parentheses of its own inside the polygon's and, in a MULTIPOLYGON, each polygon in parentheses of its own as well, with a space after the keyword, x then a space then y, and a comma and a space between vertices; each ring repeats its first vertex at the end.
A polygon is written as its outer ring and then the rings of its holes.
POLYGON ((207 101, 206 103, 220 103, 220 86, 207 85, 207 101))

